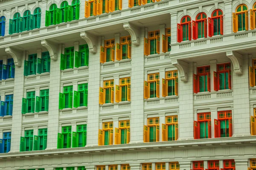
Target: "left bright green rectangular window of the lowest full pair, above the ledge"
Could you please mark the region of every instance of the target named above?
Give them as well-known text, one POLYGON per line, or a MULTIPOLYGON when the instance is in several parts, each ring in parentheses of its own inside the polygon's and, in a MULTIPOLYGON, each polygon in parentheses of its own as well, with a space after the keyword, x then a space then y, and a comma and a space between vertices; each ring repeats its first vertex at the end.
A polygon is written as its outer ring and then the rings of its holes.
POLYGON ((57 149, 71 147, 71 126, 62 127, 62 133, 58 133, 57 149))

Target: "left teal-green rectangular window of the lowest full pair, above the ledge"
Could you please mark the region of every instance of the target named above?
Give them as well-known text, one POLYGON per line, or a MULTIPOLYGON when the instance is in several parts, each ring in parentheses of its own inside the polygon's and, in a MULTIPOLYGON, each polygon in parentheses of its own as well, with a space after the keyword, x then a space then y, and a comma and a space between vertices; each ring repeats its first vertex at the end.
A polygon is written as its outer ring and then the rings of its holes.
POLYGON ((20 137, 20 152, 33 150, 34 130, 25 130, 25 137, 20 137))

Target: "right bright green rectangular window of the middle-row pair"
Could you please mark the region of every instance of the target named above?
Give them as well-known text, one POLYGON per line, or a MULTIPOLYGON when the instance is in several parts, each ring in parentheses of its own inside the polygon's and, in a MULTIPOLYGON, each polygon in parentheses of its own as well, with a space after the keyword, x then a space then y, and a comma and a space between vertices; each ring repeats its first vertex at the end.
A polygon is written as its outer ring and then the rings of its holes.
POLYGON ((78 91, 74 91, 74 108, 87 106, 88 83, 78 85, 78 91))

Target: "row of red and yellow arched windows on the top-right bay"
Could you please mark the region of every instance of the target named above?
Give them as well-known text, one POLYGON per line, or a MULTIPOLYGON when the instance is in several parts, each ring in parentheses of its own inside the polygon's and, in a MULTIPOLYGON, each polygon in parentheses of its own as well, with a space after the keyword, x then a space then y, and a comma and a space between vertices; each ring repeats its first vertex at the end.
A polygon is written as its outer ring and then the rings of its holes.
MULTIPOLYGON (((244 4, 239 5, 236 8, 236 12, 233 13, 233 32, 248 30, 248 9, 244 4)), ((253 5, 253 9, 250 9, 250 29, 256 28, 256 3, 253 5)), ((196 16, 195 21, 191 20, 191 17, 184 16, 180 24, 177 24, 177 42, 186 40, 196 40, 198 38, 212 37, 214 35, 223 35, 223 12, 220 9, 216 9, 212 12, 212 16, 201 12, 196 16)))

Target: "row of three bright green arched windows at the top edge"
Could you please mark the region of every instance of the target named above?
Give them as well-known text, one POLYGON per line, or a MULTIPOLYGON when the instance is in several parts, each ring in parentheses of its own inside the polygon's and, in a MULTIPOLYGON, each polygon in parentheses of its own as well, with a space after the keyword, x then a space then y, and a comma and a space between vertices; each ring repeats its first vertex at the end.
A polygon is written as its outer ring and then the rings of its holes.
POLYGON ((79 20, 79 12, 79 0, 73 0, 71 6, 68 5, 67 1, 64 1, 61 3, 60 8, 57 8, 56 4, 52 4, 49 11, 46 11, 45 26, 79 20))

